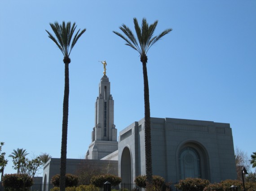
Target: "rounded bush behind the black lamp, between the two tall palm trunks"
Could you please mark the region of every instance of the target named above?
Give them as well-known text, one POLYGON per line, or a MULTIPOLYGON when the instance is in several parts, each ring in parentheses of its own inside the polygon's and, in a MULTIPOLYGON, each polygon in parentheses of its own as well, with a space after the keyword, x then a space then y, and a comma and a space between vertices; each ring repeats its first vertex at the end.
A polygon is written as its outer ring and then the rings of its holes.
POLYGON ((113 174, 100 174, 91 178, 91 184, 95 187, 103 187, 106 181, 111 183, 111 186, 116 186, 121 183, 122 179, 113 174))

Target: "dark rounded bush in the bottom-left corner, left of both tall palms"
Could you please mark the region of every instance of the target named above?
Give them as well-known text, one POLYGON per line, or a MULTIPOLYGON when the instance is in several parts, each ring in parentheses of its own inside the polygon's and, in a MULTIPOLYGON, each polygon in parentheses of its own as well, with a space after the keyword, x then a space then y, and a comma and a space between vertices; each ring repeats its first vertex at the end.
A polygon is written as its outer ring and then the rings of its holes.
POLYGON ((22 189, 25 187, 31 187, 33 185, 33 178, 29 177, 27 174, 5 174, 3 178, 3 186, 22 189), (24 182, 24 180, 26 180, 24 182))

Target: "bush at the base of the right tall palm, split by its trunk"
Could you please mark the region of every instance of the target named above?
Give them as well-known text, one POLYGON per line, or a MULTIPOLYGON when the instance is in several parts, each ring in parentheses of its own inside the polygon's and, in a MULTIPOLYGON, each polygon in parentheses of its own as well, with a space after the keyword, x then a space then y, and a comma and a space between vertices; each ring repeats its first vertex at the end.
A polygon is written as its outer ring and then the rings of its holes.
MULTIPOLYGON (((134 182, 138 187, 146 188, 147 180, 146 175, 139 175, 135 178, 134 182)), ((161 188, 164 184, 164 178, 161 176, 153 175, 152 176, 152 186, 156 188, 161 188)), ((148 187, 147 189, 154 189, 153 187, 148 187)))

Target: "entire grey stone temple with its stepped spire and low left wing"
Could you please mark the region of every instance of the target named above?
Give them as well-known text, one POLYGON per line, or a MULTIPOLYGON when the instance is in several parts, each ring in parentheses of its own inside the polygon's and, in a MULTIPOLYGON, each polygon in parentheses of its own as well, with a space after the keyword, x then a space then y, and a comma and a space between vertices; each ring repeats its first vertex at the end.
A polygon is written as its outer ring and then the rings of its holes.
MULTIPOLYGON (((123 183, 133 183, 136 176, 146 174, 144 119, 120 130, 117 139, 114 99, 106 74, 99 83, 94 124, 86 159, 103 165, 111 161, 123 183)), ((190 177, 217 183, 237 178, 229 123, 151 117, 151 145, 153 174, 166 182, 190 177)), ((80 161, 67 159, 66 172, 75 174, 80 161)), ((59 173, 60 159, 52 158, 44 166, 43 183, 50 183, 59 173)))

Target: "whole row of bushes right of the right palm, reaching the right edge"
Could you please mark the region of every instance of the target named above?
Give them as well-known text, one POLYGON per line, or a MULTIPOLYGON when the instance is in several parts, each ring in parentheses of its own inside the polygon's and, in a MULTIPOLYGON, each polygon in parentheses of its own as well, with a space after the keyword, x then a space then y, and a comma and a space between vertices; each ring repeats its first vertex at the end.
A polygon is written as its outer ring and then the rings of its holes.
MULTIPOLYGON (((238 191, 243 191, 243 183, 238 180, 224 180, 221 183, 210 184, 208 180, 201 178, 186 178, 180 180, 175 187, 181 191, 230 191, 230 187, 234 185, 238 191)), ((256 191, 256 183, 245 183, 247 191, 256 191)))

